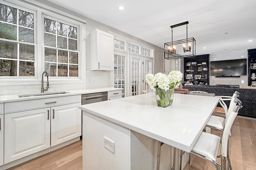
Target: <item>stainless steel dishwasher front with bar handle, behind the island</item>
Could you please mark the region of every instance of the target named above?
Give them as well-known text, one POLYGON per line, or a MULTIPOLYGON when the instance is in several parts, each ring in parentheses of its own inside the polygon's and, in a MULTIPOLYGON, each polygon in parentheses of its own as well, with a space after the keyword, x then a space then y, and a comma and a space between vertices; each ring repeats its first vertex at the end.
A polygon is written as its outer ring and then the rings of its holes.
POLYGON ((82 94, 82 105, 108 100, 108 92, 82 94))

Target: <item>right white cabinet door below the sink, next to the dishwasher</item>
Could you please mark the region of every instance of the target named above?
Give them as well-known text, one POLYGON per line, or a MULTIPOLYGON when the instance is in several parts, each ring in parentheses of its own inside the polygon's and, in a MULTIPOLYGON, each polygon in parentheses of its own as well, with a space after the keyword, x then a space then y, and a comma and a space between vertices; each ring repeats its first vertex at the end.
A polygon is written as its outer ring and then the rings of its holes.
POLYGON ((81 103, 51 107, 51 146, 82 135, 81 103))

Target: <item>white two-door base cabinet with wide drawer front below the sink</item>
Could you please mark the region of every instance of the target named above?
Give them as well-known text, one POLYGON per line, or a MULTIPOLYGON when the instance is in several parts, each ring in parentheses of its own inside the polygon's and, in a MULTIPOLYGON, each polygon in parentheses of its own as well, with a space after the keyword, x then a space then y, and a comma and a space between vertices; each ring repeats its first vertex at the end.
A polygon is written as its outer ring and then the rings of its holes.
POLYGON ((81 95, 5 103, 4 164, 82 135, 81 95))

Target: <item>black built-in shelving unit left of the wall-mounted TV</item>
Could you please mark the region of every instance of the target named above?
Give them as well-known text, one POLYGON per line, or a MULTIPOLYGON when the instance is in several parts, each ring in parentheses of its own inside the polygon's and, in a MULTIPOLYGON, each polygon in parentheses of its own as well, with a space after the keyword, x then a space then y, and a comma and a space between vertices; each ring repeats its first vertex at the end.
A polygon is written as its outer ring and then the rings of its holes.
POLYGON ((206 54, 184 58, 184 81, 194 85, 209 84, 209 56, 206 54))

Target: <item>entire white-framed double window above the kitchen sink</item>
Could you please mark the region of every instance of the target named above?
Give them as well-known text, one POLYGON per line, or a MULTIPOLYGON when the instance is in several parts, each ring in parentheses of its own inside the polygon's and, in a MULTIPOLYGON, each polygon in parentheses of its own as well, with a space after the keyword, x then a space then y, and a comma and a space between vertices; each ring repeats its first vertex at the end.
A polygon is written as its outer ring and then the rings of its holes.
POLYGON ((44 70, 51 82, 83 83, 85 23, 50 6, 1 0, 0 83, 34 84, 44 70))

